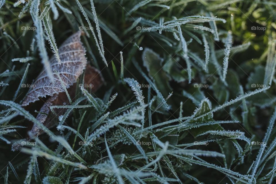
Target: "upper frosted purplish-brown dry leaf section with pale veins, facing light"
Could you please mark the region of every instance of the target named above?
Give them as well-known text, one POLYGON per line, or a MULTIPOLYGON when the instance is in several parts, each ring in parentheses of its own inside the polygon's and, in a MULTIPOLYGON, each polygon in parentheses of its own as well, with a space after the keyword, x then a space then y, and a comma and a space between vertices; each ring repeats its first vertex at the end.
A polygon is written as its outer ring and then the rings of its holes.
POLYGON ((62 83, 59 80, 60 76, 66 88, 76 83, 77 78, 83 73, 87 64, 85 57, 85 48, 81 42, 82 31, 78 31, 70 36, 59 47, 59 55, 61 64, 56 62, 54 56, 51 57, 51 70, 55 83, 52 83, 46 72, 43 71, 33 83, 33 88, 28 92, 26 98, 22 102, 22 106, 27 106, 29 103, 39 100, 39 97, 53 96, 60 92, 64 92, 62 83))

